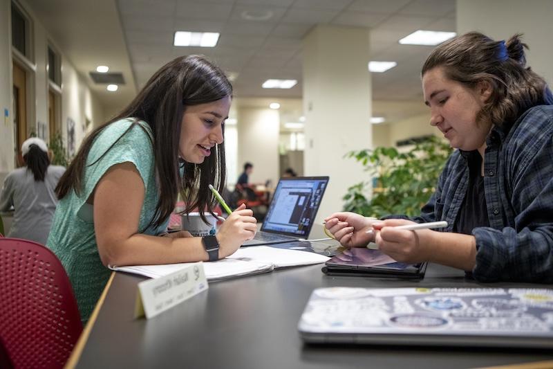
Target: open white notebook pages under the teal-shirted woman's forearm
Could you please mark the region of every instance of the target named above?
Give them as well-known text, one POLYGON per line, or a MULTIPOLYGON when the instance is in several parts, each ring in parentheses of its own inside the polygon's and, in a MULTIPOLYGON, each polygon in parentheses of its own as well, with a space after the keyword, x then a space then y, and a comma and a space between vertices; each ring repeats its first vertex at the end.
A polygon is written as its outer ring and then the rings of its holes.
MULTIPOLYGON (((223 280, 238 276, 266 273, 274 268, 294 267, 326 262, 329 258, 307 251, 275 249, 270 246, 250 246, 238 249, 236 253, 216 262, 204 262, 205 277, 209 281, 223 280)), ((184 267, 189 262, 178 264, 133 265, 110 267, 115 271, 140 274, 149 278, 167 276, 184 267)))

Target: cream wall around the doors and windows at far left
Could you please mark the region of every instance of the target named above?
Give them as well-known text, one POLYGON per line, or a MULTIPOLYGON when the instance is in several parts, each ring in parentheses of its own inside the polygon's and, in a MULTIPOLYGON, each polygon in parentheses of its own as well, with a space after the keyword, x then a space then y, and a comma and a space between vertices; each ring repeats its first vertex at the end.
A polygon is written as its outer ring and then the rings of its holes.
MULTIPOLYGON (((75 121, 75 149, 79 146, 84 134, 85 117, 93 125, 102 123, 104 118, 103 107, 88 89, 82 75, 79 75, 56 44, 55 39, 48 35, 40 20, 33 14, 31 6, 26 1, 19 2, 32 21, 33 60, 35 71, 30 76, 32 86, 28 91, 28 99, 33 111, 28 111, 28 133, 37 132, 37 122, 48 123, 48 73, 46 60, 48 42, 53 44, 62 56, 62 132, 67 134, 67 118, 75 121)), ((12 126, 12 46, 11 46, 11 6, 10 0, 0 0, 0 172, 13 169, 14 147, 12 126), (3 118, 3 110, 9 109, 10 117, 3 118)))

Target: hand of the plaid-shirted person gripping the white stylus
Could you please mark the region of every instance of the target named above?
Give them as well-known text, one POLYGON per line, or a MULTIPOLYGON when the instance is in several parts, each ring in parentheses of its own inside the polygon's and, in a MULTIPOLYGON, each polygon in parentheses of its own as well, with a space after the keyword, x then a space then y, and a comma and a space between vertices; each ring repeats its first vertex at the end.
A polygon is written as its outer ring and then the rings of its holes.
POLYGON ((380 251, 398 262, 425 262, 431 256, 431 237, 435 231, 419 229, 406 231, 395 226, 415 224, 406 219, 386 219, 373 224, 375 242, 380 251))

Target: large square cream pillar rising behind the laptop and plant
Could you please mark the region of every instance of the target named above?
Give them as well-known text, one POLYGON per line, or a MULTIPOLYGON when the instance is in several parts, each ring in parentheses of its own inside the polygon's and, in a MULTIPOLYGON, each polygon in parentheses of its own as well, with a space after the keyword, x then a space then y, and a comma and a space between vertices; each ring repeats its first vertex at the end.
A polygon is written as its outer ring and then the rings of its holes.
POLYGON ((303 39, 306 176, 330 176, 317 222, 341 211, 348 187, 371 181, 344 155, 371 147, 369 30, 317 26, 303 39))

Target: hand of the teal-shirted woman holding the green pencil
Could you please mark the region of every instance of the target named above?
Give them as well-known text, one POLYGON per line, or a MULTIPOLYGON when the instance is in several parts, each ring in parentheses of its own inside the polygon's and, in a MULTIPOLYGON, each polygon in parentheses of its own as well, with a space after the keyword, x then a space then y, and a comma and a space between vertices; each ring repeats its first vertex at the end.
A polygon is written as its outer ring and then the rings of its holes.
POLYGON ((247 209, 244 204, 238 206, 217 231, 219 258, 232 255, 245 241, 252 240, 257 231, 256 224, 252 209, 247 209))

